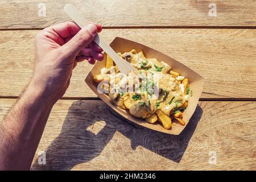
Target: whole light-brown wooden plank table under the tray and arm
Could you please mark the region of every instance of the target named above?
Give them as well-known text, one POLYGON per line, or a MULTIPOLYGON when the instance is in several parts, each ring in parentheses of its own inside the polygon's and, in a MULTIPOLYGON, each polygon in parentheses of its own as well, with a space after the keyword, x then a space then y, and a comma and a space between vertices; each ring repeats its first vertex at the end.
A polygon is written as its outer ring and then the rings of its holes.
MULTIPOLYGON (((63 11, 69 1, 44 0, 46 16, 39 16, 41 2, 0 1, 1 120, 32 76, 36 32, 69 20, 63 11)), ((72 3, 104 26, 109 43, 115 36, 135 40, 198 72, 205 78, 203 94, 183 133, 158 133, 122 121, 85 84, 92 66, 81 63, 53 107, 32 170, 255 170, 255 0, 72 3), (212 2, 216 17, 208 14, 212 2)))

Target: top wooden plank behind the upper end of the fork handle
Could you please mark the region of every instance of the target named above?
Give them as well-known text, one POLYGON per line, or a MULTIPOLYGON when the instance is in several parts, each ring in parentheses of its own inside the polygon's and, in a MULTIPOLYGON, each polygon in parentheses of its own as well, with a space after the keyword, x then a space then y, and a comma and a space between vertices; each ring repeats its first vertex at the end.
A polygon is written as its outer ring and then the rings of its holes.
MULTIPOLYGON (((66 3, 70 1, 2 0, 0 28, 43 28, 64 22, 69 19, 63 11, 66 3), (46 16, 38 14, 42 2, 46 5, 46 16)), ((256 26, 254 0, 76 0, 72 3, 86 18, 106 27, 256 26), (209 16, 210 3, 216 3, 216 17, 209 16)))

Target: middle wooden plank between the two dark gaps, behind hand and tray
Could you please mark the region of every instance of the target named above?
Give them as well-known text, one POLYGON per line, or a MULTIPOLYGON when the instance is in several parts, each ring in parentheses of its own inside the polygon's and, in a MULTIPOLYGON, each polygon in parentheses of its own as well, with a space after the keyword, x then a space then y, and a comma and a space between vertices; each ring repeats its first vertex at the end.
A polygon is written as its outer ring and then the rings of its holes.
MULTIPOLYGON (((32 76, 38 31, 0 31, 0 96, 18 96, 32 76)), ((134 40, 180 61, 205 78, 201 98, 256 98, 256 30, 116 29, 104 30, 134 40)), ((95 97, 85 84, 92 65, 80 63, 65 97, 95 97)))

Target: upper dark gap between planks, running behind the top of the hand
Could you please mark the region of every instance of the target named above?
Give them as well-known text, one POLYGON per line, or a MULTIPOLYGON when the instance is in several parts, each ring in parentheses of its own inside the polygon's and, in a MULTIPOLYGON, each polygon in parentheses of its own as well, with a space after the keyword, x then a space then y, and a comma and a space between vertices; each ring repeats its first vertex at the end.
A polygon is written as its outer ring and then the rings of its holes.
MULTIPOLYGON (((0 28, 0 31, 16 31, 16 30, 43 30, 45 27, 40 28, 0 28)), ((104 26, 103 29, 180 29, 180 28, 195 28, 195 29, 256 29, 256 26, 104 26)))

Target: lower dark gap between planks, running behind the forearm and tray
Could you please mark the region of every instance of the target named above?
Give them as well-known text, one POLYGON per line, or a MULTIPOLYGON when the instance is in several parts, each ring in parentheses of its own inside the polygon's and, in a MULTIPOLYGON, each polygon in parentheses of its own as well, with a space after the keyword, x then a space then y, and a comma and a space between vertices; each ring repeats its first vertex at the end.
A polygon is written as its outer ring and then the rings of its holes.
MULTIPOLYGON (((0 99, 17 99, 19 96, 0 96, 0 99)), ((101 100, 99 97, 62 97, 60 100, 101 100)), ((200 98, 199 101, 256 101, 256 98, 200 98)))

